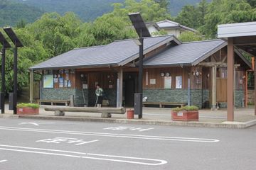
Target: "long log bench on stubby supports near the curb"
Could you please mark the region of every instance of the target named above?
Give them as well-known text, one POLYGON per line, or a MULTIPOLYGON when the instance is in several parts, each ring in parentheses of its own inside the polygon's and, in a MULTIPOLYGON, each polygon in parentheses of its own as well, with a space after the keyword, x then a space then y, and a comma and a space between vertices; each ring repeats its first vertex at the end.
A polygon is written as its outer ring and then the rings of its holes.
POLYGON ((58 116, 65 115, 65 112, 102 113, 102 118, 111 118, 111 114, 124 114, 125 108, 48 107, 45 111, 54 111, 58 116))

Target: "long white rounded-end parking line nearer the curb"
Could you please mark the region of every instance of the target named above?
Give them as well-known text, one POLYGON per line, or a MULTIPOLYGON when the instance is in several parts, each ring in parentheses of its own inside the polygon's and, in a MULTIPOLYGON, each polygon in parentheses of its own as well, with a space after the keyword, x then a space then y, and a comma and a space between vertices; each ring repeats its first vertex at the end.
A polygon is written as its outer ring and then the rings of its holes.
POLYGON ((34 128, 15 128, 0 126, 0 130, 15 130, 26 132, 47 132, 69 135, 89 135, 100 137, 123 137, 143 140, 167 140, 167 141, 181 141, 181 142, 220 142, 220 140, 194 138, 194 137, 164 137, 164 136, 149 136, 149 135, 127 135, 127 134, 114 134, 114 133, 100 133, 100 132, 82 132, 82 131, 68 131, 68 130, 49 130, 49 129, 34 129, 34 128))

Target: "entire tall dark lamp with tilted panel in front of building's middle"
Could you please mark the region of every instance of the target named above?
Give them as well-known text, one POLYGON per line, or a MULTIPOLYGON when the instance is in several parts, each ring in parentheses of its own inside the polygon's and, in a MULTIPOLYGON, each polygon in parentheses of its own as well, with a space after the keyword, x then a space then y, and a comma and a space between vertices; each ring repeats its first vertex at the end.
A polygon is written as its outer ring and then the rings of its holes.
POLYGON ((151 37, 146 24, 144 23, 140 13, 129 13, 129 18, 132 21, 137 34, 138 40, 135 41, 139 45, 139 89, 138 94, 134 94, 134 114, 139 115, 139 119, 142 118, 142 81, 143 81, 143 41, 144 37, 151 37))

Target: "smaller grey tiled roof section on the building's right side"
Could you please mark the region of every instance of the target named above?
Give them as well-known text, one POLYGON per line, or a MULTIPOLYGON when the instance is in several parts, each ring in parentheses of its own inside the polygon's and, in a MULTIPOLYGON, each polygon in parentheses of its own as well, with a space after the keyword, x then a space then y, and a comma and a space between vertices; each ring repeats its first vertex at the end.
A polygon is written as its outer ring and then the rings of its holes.
POLYGON ((169 48, 144 62, 144 66, 196 65, 225 47, 224 40, 186 42, 169 48))

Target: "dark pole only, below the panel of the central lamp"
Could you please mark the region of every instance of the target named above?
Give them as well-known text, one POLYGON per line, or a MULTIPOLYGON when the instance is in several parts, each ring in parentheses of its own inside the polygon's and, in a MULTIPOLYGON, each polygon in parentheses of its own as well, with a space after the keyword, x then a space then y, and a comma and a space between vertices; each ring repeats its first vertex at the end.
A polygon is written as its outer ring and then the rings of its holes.
MULTIPOLYGON (((144 39, 142 36, 139 38, 139 42, 141 42, 141 45, 139 45, 139 94, 143 94, 143 42, 144 39)), ((142 95, 143 96, 143 95, 142 95)), ((138 118, 142 118, 142 100, 140 101, 140 108, 139 108, 139 116, 138 118)))

